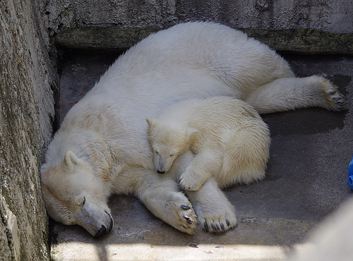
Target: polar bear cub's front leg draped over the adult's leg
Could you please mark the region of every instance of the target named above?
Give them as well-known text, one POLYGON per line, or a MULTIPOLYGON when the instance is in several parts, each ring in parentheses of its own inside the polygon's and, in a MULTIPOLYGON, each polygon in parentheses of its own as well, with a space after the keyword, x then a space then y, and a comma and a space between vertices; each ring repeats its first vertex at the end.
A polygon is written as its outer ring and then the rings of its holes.
POLYGON ((215 148, 203 148, 180 176, 180 186, 184 190, 199 190, 205 181, 220 172, 222 154, 215 148))

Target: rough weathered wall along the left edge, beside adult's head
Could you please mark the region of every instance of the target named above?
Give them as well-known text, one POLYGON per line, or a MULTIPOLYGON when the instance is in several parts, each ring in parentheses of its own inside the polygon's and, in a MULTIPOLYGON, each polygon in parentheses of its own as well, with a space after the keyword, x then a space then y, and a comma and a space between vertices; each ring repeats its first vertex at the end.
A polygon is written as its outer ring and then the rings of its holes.
POLYGON ((49 260, 39 166, 58 85, 39 1, 0 1, 0 260, 49 260))

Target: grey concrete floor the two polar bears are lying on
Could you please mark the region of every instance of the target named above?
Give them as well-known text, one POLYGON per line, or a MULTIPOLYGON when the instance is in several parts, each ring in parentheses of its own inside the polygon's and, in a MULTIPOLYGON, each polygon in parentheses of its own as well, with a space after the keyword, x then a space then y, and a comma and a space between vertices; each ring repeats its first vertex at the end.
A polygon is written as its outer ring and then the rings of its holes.
MULTIPOLYGON (((68 51, 61 70, 61 117, 118 54, 68 51)), ((238 226, 193 236, 154 217, 136 199, 109 202, 114 228, 95 239, 80 226, 52 221, 53 260, 285 260, 310 248, 317 224, 352 196, 347 168, 353 152, 353 57, 285 55, 298 76, 323 74, 348 99, 348 110, 302 109, 264 115, 272 145, 267 177, 225 190, 238 226)))

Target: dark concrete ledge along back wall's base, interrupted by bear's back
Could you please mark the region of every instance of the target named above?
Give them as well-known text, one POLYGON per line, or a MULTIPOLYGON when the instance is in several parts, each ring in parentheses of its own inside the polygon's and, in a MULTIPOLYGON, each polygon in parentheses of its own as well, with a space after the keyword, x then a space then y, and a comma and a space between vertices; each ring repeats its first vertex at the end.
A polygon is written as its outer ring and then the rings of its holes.
MULTIPOLYGON (((294 54, 353 54, 353 34, 323 30, 237 28, 271 48, 294 54)), ((56 42, 63 47, 92 50, 124 50, 162 28, 88 27, 61 30, 56 42)))

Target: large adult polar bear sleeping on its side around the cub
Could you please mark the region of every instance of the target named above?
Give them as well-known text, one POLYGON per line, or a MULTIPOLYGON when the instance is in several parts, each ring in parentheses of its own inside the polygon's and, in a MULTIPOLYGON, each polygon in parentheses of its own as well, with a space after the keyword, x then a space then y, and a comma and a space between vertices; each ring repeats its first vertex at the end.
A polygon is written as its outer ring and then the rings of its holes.
POLYGON ((146 134, 145 118, 169 104, 217 95, 243 99, 259 113, 345 105, 328 80, 296 78, 275 51, 242 32, 215 23, 175 25, 119 57, 68 111, 42 165, 49 215, 102 236, 113 224, 107 200, 119 193, 136 195, 186 233, 193 233, 196 216, 208 231, 234 226, 234 210, 213 179, 188 197, 180 192, 177 181, 191 152, 158 175, 146 134))

